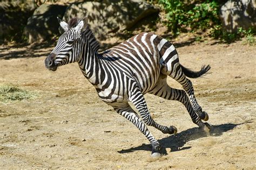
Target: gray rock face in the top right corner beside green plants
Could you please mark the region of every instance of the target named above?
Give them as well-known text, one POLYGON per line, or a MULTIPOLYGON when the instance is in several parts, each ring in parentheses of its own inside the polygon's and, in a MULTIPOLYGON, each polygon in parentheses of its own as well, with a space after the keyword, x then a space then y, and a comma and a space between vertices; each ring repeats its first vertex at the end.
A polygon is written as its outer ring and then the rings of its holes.
POLYGON ((223 29, 236 32, 239 27, 256 29, 256 0, 228 1, 220 9, 223 29))

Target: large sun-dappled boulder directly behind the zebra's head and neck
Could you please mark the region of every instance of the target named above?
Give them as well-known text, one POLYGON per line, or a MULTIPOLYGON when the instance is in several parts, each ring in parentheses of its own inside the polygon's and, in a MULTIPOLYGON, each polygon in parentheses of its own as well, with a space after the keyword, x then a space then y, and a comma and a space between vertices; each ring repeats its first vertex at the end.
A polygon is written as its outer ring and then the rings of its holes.
POLYGON ((89 16, 89 25, 97 39, 105 39, 110 32, 129 29, 139 20, 158 13, 159 9, 141 0, 103 0, 70 4, 63 20, 89 16))

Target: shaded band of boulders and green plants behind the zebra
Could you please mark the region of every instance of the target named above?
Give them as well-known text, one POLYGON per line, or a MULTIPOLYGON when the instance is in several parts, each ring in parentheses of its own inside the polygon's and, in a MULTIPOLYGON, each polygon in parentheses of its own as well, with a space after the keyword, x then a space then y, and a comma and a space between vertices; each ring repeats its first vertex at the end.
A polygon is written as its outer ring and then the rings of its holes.
POLYGON ((243 1, 3 1, 0 2, 0 44, 33 44, 59 36, 57 16, 66 22, 89 15, 97 39, 128 38, 138 32, 181 33, 232 42, 254 36, 255 0, 243 1))

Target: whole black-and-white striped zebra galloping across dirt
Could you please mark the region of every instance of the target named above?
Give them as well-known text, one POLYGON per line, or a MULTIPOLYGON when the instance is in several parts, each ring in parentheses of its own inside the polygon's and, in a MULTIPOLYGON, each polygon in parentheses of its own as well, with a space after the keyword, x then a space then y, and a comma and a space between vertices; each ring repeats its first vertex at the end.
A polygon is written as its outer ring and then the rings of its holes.
POLYGON ((146 93, 183 103, 192 122, 206 132, 210 131, 210 124, 203 122, 208 120, 208 114, 198 104, 192 82, 187 79, 205 75, 210 65, 202 66, 198 72, 182 66, 171 42, 146 32, 99 53, 100 44, 87 20, 88 16, 72 18, 66 23, 58 18, 65 32, 45 59, 47 69, 56 71, 59 66, 78 62, 83 75, 96 88, 99 98, 132 122, 150 141, 152 157, 161 156, 160 144, 147 125, 168 134, 177 133, 177 128, 160 125, 153 120, 144 98, 146 93), (166 82, 167 76, 179 82, 184 90, 171 88, 166 82))

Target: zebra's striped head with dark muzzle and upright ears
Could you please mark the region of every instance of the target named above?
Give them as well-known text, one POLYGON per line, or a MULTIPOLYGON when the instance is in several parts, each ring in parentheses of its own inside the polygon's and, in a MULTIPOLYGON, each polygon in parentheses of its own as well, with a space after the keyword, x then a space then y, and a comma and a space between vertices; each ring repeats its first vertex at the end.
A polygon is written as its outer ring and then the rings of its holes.
POLYGON ((68 24, 58 18, 65 32, 59 37, 56 47, 44 61, 47 69, 56 71, 58 66, 79 61, 82 56, 82 36, 87 26, 87 19, 88 16, 82 20, 73 18, 68 24))

